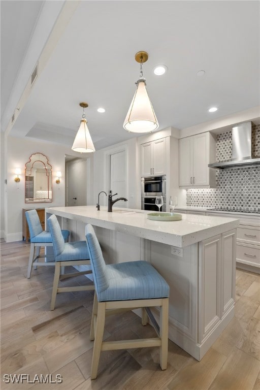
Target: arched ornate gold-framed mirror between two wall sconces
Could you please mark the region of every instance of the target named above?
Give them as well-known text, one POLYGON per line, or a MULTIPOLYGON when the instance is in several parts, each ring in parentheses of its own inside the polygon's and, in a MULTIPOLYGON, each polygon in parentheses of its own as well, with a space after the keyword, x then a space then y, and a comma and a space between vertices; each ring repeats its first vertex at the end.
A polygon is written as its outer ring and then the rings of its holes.
POLYGON ((42 153, 34 153, 25 164, 25 203, 52 202, 52 167, 42 153))

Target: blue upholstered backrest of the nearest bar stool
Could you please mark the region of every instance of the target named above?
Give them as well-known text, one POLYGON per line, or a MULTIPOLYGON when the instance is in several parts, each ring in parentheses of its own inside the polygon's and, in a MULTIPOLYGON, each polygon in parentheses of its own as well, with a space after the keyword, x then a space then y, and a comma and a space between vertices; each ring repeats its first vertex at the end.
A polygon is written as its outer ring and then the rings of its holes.
POLYGON ((105 291, 109 286, 109 280, 106 275, 106 263, 104 261, 100 243, 95 235, 93 226, 87 224, 85 233, 95 290, 99 295, 99 293, 105 291))

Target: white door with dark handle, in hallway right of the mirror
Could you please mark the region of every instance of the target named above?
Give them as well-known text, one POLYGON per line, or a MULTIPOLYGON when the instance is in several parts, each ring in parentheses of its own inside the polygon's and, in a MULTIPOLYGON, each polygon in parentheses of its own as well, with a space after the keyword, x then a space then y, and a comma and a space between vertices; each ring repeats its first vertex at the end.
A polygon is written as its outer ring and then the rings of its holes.
POLYGON ((87 204, 87 161, 77 159, 66 164, 67 206, 86 206, 87 204))

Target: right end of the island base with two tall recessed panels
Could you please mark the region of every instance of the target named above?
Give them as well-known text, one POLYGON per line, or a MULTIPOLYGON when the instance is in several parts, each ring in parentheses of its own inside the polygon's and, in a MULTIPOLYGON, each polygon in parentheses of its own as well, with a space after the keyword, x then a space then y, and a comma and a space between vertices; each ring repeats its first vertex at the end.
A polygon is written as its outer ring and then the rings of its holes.
POLYGON ((202 343, 234 306, 236 231, 201 241, 199 251, 198 341, 202 343))

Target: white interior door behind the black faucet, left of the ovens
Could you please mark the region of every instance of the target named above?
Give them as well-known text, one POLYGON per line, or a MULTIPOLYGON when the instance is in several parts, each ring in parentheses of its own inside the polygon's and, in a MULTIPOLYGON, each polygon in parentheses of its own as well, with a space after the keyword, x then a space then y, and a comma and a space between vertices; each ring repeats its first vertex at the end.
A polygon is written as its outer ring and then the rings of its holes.
MULTIPOLYGON (((113 198, 126 198, 126 158, 125 150, 110 154, 110 189, 112 194, 117 192, 113 198)), ((115 206, 127 207, 127 202, 118 201, 115 206)))

